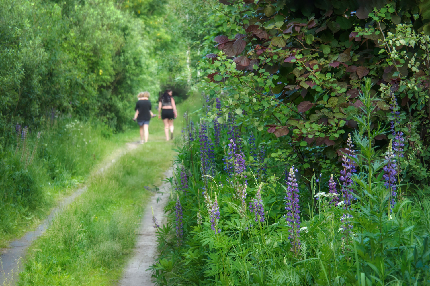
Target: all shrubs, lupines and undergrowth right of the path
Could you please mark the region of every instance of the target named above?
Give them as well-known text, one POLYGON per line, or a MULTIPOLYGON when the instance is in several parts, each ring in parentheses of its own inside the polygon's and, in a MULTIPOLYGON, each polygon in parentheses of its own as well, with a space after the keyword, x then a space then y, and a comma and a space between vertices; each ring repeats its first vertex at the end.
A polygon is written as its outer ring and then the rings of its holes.
POLYGON ((428 1, 219 2, 154 279, 428 285, 428 1))

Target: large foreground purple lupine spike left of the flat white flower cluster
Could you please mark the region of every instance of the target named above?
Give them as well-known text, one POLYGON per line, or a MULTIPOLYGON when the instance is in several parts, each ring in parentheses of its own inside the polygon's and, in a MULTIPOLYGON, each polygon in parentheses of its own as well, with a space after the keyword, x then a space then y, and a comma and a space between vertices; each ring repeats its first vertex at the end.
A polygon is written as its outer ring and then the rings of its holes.
POLYGON ((300 206, 298 204, 299 202, 299 195, 298 195, 298 184, 297 179, 295 178, 295 173, 297 172, 297 169, 294 169, 294 166, 291 167, 288 181, 287 181, 287 196, 284 198, 286 200, 286 207, 287 210, 286 214, 286 221, 289 226, 292 228, 288 231, 290 232, 290 235, 288 236, 288 239, 291 242, 292 245, 292 252, 294 252, 295 256, 298 255, 298 250, 301 249, 300 247, 300 206))

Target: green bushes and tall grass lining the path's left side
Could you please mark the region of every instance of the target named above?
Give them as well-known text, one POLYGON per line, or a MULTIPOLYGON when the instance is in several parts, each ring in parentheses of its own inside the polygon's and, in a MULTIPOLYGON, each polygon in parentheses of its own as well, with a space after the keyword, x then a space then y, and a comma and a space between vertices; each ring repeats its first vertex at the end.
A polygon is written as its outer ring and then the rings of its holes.
POLYGON ((129 138, 111 135, 131 128, 138 92, 155 103, 172 84, 186 98, 187 38, 167 29, 181 6, 138 3, 0 1, 2 247, 129 138))

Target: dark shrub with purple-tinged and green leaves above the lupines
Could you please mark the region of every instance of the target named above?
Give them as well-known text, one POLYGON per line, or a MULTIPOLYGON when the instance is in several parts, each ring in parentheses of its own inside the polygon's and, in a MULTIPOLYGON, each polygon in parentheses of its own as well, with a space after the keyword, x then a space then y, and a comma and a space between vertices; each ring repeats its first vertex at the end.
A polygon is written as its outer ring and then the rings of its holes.
MULTIPOLYGON (((267 138, 279 147, 272 156, 301 164, 307 178, 313 169, 338 171, 335 161, 357 127, 359 84, 370 77, 372 94, 384 99, 375 102, 374 126, 386 124, 394 94, 396 129, 405 132, 409 151, 404 180, 420 197, 429 192, 427 1, 221 2, 211 15, 216 48, 208 50, 218 54, 200 65, 202 89, 223 99, 211 119, 222 123, 236 112, 238 124, 269 127, 276 137, 267 138)), ((376 137, 377 150, 391 138, 376 137)))

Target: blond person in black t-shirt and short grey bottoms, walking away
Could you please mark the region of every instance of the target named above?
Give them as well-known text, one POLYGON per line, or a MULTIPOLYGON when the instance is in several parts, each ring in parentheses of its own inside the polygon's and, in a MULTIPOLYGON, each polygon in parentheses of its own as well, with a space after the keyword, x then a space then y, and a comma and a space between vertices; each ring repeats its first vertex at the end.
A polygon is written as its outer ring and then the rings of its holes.
POLYGON ((138 94, 138 102, 136 103, 136 113, 133 120, 137 120, 140 126, 140 143, 146 143, 149 136, 149 120, 155 115, 151 111, 151 101, 149 101, 149 92, 144 91, 138 94), (145 138, 145 140, 144 140, 145 138))

